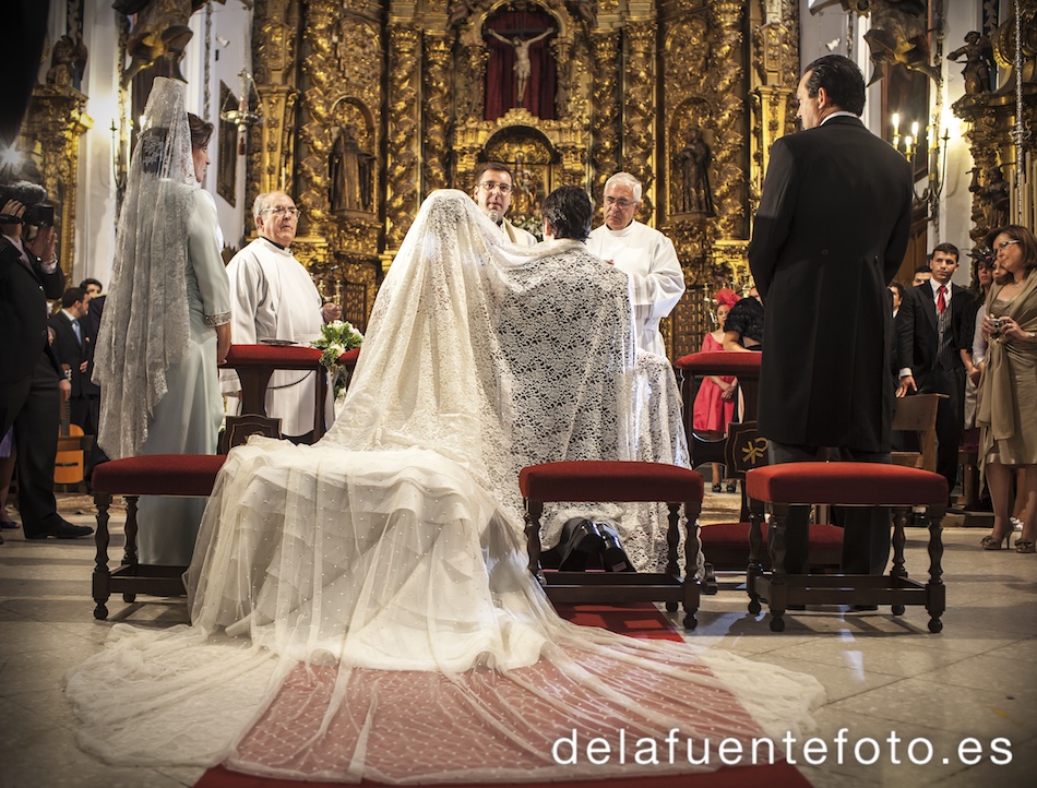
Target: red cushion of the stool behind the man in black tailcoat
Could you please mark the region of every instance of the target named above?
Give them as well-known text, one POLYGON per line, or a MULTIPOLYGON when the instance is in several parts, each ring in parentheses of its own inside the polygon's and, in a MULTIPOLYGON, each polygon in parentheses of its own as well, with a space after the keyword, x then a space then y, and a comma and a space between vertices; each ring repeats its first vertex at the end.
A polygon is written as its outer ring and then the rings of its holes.
POLYGON ((746 475, 746 494, 770 503, 928 505, 947 502, 939 474, 883 463, 784 463, 746 475))

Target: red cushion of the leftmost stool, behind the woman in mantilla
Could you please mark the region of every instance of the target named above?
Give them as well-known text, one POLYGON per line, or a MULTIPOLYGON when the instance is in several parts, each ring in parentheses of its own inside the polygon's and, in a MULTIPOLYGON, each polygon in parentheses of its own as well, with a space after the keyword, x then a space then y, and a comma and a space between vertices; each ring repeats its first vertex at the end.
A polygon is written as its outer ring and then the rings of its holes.
POLYGON ((225 454, 150 454, 102 463, 91 487, 122 496, 211 496, 225 454))

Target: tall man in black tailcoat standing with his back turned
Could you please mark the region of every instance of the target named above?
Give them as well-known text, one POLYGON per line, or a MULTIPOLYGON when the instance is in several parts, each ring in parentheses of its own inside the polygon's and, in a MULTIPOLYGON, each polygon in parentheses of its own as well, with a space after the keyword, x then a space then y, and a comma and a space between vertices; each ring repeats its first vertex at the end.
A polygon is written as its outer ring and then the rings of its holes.
MULTIPOLYGON (((890 462, 893 308, 907 249, 911 168, 860 121, 865 81, 841 55, 797 91, 803 130, 771 148, 749 265, 766 308, 760 432, 772 463, 890 462)), ((808 509, 787 521, 786 569, 807 569, 808 509)), ((881 574, 885 510, 843 513, 843 571, 881 574)))

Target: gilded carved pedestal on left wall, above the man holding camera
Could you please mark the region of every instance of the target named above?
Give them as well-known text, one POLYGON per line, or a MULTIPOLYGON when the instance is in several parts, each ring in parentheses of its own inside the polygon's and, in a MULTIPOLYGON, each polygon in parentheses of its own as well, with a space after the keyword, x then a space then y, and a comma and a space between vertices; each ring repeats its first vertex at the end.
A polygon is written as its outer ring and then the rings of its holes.
POLYGON ((61 270, 68 276, 75 258, 80 136, 94 126, 85 107, 86 96, 73 87, 37 85, 22 127, 23 150, 39 152, 40 186, 56 207, 61 270))

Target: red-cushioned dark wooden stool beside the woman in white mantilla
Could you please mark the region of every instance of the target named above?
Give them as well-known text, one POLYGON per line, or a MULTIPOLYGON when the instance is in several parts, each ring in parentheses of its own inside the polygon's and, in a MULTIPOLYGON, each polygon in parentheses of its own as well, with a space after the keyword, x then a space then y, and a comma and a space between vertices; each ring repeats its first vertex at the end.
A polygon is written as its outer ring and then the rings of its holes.
POLYGON ((97 508, 97 554, 92 584, 95 619, 108 617, 106 602, 114 593, 121 592, 128 602, 134 601, 138 594, 184 593, 181 575, 187 566, 142 564, 138 560, 136 503, 141 496, 208 497, 226 458, 223 454, 150 454, 112 459, 94 468, 91 486, 97 508), (112 572, 108 569, 108 506, 114 494, 123 497, 127 512, 122 565, 112 572))

